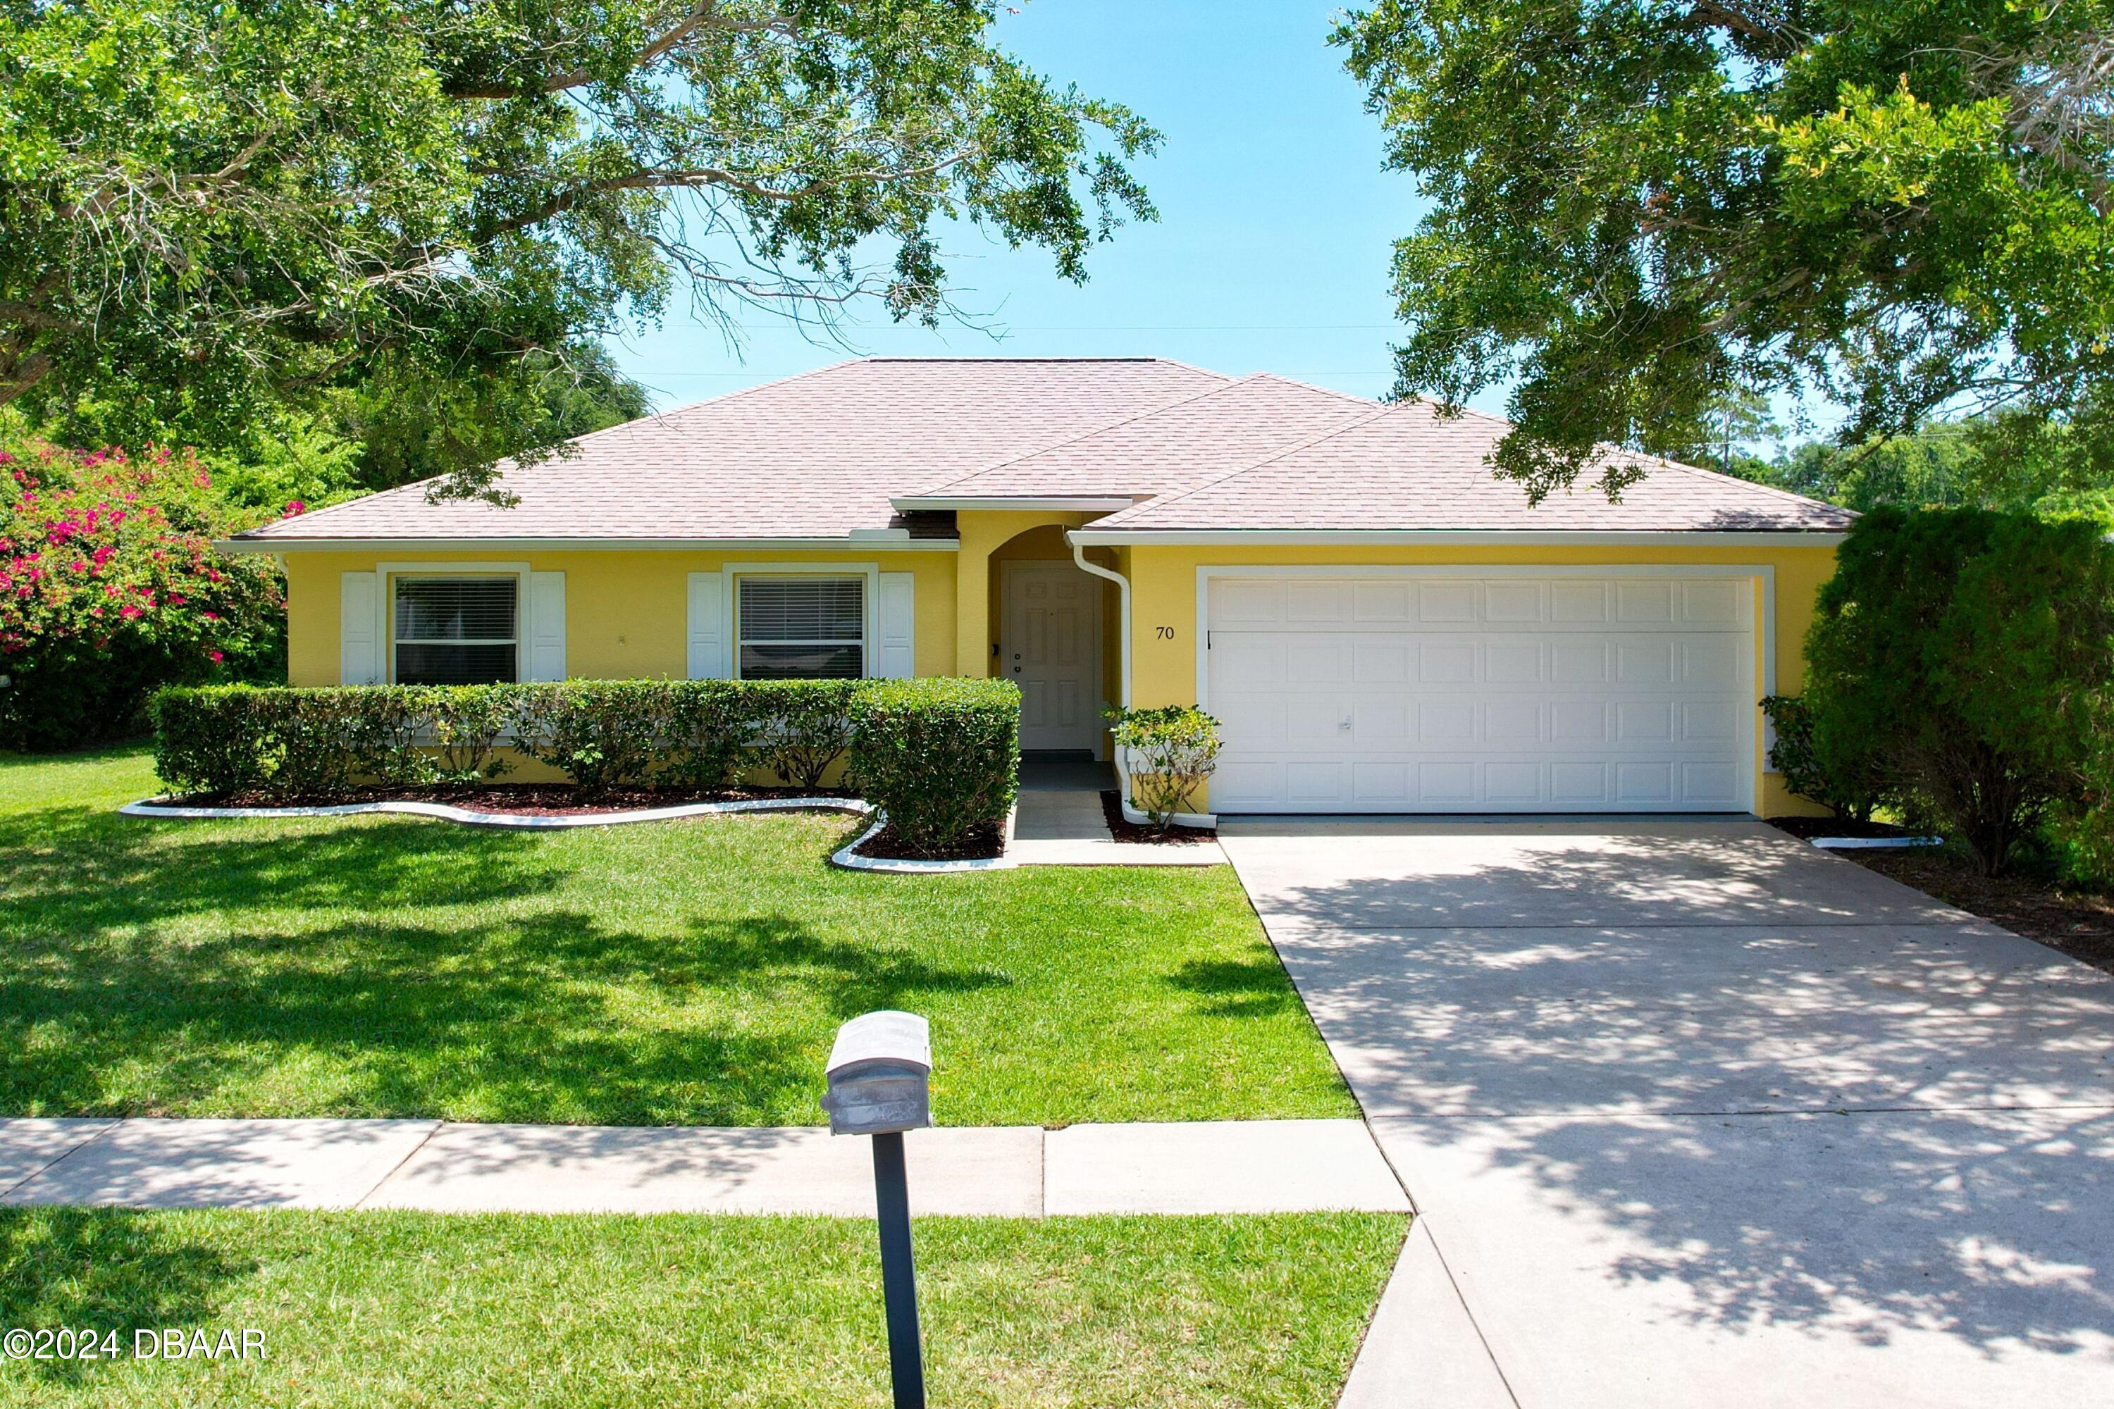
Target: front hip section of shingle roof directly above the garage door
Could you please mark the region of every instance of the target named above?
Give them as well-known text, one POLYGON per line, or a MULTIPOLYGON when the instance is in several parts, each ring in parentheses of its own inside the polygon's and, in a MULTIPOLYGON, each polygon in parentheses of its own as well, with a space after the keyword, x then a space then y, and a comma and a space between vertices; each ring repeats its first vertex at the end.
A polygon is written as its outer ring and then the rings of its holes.
POLYGON ((1518 484, 1490 475, 1488 454, 1512 427, 1427 403, 1374 414, 1186 492, 1108 518, 1095 530, 1520 530, 1520 532, 1841 532, 1856 515, 1835 505, 1693 465, 1621 456, 1645 480, 1609 503, 1579 486, 1526 505, 1518 484))

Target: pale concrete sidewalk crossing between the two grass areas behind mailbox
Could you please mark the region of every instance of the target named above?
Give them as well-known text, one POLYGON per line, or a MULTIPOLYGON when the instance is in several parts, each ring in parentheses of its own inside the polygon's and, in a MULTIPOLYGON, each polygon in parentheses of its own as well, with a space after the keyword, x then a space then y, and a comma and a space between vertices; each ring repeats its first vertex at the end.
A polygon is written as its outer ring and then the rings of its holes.
MULTIPOLYGON (((1355 1120, 915 1130, 911 1210, 1408 1213, 1355 1120)), ((820 1128, 0 1120, 0 1204, 873 1217, 871 1143, 820 1128)))

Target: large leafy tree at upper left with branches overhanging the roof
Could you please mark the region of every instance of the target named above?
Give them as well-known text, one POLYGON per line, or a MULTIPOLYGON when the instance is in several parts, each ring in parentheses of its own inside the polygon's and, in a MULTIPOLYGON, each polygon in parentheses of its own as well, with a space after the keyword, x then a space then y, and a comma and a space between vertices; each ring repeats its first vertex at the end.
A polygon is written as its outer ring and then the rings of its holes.
POLYGON ((687 289, 738 330, 949 311, 934 228, 1084 258, 1156 133, 996 46, 996 0, 0 0, 0 406, 235 444, 446 387, 488 486, 522 384, 687 289))

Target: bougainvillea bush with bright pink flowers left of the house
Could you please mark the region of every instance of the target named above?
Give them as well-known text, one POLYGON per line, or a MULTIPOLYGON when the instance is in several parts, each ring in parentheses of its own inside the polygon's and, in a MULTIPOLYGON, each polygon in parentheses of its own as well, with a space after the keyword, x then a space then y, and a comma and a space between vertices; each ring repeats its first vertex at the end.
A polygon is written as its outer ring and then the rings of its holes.
MULTIPOLYGON (((0 454, 0 748, 144 729, 163 684, 283 678, 285 594, 184 452, 0 454)), ((290 505, 298 511, 298 505, 290 505)))

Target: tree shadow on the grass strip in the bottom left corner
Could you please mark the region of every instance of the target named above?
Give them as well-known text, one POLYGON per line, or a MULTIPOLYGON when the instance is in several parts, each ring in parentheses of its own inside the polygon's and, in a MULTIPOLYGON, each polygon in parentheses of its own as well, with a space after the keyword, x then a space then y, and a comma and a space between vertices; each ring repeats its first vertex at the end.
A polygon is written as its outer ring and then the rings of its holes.
MULTIPOLYGON (((120 1208, 0 1210, 0 1327, 118 1333, 211 1322, 220 1293, 258 1263, 184 1234, 184 1223, 120 1208)), ((11 1358, 4 1375, 74 1386, 110 1360, 11 1358)))

